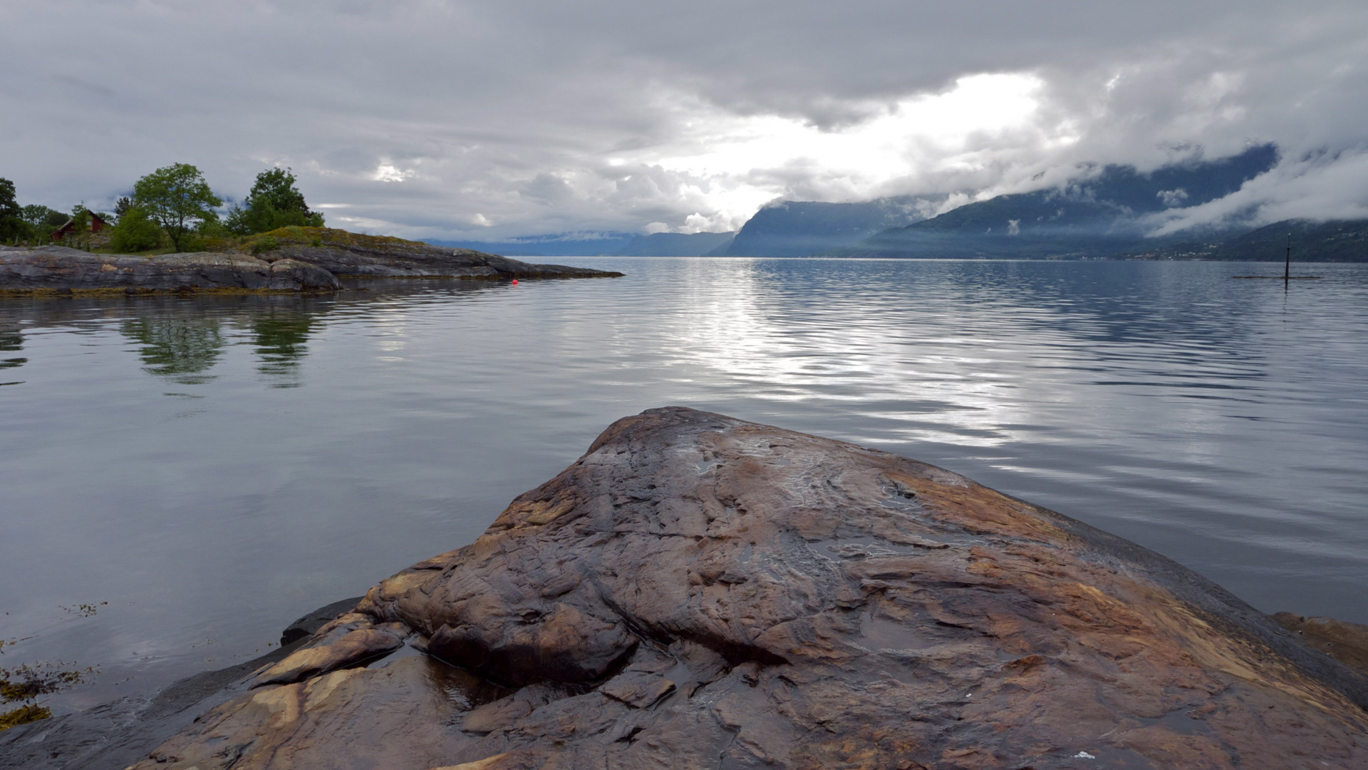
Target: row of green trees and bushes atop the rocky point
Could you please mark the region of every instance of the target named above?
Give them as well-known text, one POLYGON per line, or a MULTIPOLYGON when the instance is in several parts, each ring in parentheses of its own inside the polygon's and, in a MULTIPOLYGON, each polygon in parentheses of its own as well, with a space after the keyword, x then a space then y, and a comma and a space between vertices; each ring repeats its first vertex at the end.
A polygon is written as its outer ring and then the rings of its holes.
POLYGON ((223 211, 204 174, 189 163, 172 163, 142 177, 130 195, 119 197, 114 212, 77 204, 71 214, 47 206, 21 206, 14 182, 0 178, 0 243, 41 244, 71 221, 77 238, 88 234, 92 214, 114 226, 109 249, 140 252, 201 247, 208 238, 250 236, 278 227, 321 227, 323 214, 311 211, 290 169, 267 169, 256 177, 246 199, 223 211), (222 211, 222 214, 220 214, 222 211))

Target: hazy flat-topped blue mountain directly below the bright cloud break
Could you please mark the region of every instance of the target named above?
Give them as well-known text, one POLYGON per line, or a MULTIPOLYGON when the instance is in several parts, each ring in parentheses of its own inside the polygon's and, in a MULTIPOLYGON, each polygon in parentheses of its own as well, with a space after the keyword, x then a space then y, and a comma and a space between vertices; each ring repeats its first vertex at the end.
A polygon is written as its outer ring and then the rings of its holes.
POLYGON ((725 251, 726 256, 811 256, 910 222, 925 219, 915 197, 866 203, 781 200, 755 212, 725 251))

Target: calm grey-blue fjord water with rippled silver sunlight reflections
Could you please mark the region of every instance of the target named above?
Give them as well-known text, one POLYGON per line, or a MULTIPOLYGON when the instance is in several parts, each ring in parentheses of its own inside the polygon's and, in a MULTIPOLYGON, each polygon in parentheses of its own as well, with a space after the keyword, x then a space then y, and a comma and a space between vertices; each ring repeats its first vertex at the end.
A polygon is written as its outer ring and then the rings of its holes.
POLYGON ((689 404, 964 473, 1368 622, 1368 266, 610 259, 627 278, 0 300, 4 662, 81 707, 264 652, 689 404), (108 604, 97 604, 108 601, 108 604), (62 607, 97 604, 94 617, 62 607))

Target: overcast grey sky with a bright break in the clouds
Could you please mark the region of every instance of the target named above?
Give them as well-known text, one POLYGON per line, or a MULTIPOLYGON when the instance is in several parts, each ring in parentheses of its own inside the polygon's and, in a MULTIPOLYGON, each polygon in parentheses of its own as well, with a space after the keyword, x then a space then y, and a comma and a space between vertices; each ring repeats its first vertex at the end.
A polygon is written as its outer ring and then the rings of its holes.
POLYGON ((107 208, 175 162, 234 199, 290 166, 330 225, 498 240, 1275 141, 1167 227, 1368 216, 1365 63, 1363 0, 4 0, 0 177, 107 208))

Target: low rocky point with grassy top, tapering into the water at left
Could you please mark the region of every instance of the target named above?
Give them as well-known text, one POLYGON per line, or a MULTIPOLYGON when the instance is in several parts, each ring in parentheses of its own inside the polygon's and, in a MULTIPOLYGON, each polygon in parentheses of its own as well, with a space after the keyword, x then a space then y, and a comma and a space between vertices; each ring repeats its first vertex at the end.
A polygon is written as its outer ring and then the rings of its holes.
POLYGON ((492 253, 327 227, 285 227, 233 251, 107 255, 0 247, 0 296, 41 293, 331 292, 338 278, 606 278, 621 273, 528 264, 492 253))

